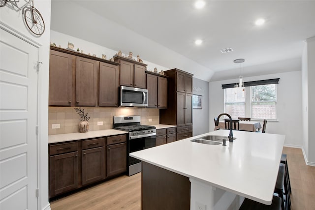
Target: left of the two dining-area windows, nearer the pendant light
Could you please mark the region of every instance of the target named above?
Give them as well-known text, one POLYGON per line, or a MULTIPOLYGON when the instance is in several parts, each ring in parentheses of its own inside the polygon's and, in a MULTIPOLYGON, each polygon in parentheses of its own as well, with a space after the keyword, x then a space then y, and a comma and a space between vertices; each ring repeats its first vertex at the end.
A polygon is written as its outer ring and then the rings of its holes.
POLYGON ((224 89, 224 112, 232 118, 245 117, 245 88, 224 89))

